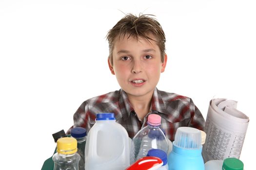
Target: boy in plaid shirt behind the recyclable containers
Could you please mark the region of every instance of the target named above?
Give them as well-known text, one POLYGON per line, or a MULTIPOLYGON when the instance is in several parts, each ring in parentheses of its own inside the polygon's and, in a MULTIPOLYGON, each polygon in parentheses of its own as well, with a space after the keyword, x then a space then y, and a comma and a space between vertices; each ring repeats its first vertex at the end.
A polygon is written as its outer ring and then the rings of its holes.
POLYGON ((165 34, 156 19, 126 15, 108 32, 107 39, 109 69, 121 89, 83 102, 74 114, 73 127, 89 132, 96 114, 111 112, 131 138, 147 125, 149 114, 161 116, 161 128, 171 141, 178 127, 203 129, 203 116, 190 98, 156 87, 167 62, 165 34))

